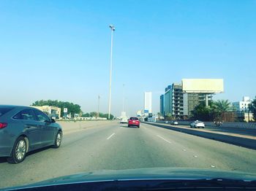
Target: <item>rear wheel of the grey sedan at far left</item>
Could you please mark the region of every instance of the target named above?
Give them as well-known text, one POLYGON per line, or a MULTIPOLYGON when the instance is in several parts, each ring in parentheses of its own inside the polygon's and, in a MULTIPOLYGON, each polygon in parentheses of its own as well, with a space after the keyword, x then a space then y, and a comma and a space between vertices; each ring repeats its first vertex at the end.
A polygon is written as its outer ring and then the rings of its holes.
POLYGON ((26 140, 24 137, 20 136, 12 149, 12 155, 11 157, 7 158, 8 163, 20 163, 22 162, 26 157, 26 140))

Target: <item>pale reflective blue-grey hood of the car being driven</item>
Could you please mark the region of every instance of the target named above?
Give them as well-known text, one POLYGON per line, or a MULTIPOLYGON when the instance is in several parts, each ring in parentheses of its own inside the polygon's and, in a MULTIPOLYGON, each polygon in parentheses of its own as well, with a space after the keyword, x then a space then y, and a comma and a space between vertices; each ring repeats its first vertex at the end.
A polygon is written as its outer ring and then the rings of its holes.
POLYGON ((75 184, 82 182, 105 182, 105 181, 127 181, 127 180, 151 180, 151 179, 237 179, 244 181, 255 181, 256 174, 239 171, 218 171, 198 168, 138 168, 130 170, 103 170, 69 176, 61 176, 48 179, 43 182, 29 184, 23 187, 39 187, 58 184, 75 184))

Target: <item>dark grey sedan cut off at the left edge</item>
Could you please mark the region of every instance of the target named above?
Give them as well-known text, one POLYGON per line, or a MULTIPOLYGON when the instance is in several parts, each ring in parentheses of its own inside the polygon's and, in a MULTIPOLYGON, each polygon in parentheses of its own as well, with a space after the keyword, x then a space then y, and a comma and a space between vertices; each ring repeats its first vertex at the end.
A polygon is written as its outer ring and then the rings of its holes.
POLYGON ((0 157, 20 163, 26 153, 42 147, 59 148, 61 126, 39 109, 0 105, 0 157))

